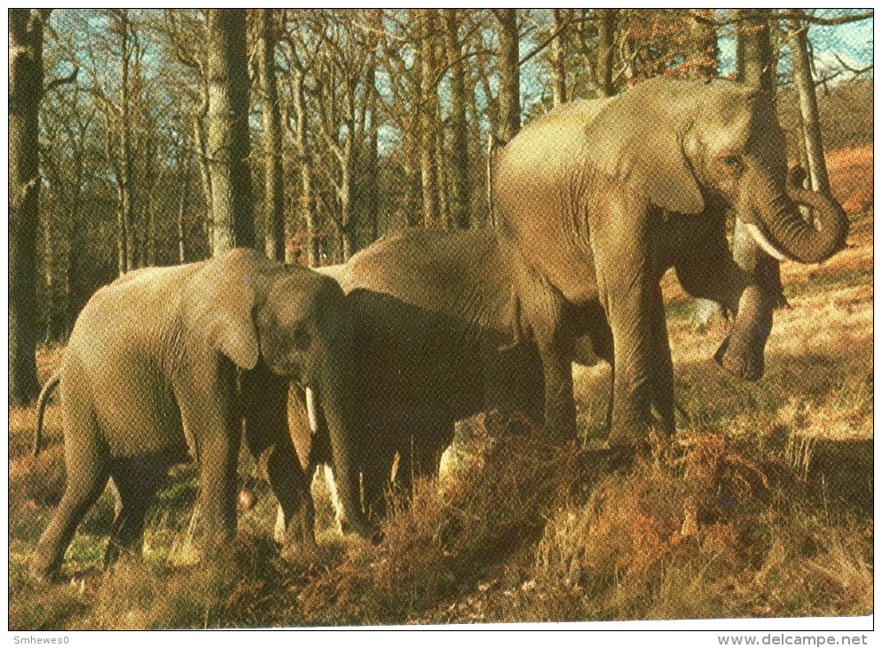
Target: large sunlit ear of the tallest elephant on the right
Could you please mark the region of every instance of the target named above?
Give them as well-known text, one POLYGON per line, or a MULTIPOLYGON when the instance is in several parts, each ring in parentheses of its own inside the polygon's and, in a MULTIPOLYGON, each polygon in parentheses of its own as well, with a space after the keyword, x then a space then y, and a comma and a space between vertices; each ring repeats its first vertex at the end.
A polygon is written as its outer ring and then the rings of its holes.
POLYGON ((588 165, 662 209, 703 211, 705 200, 683 150, 688 94, 688 84, 658 79, 610 101, 587 127, 588 165))

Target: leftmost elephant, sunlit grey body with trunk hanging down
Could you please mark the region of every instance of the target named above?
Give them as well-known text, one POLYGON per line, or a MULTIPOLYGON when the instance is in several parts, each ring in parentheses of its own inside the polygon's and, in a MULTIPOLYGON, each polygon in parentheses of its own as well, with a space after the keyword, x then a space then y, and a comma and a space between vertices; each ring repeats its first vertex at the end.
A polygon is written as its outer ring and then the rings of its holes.
MULTIPOLYGON (((108 478, 118 510, 106 563, 123 552, 138 555, 146 508, 169 466, 188 454, 199 470, 201 549, 232 537, 243 418, 288 539, 313 545, 312 502, 303 496, 309 485, 287 431, 289 379, 318 394, 341 494, 355 511, 350 523, 368 533, 355 506, 344 405, 350 344, 335 281, 254 250, 138 270, 99 289, 77 318, 59 368, 67 483, 31 573, 41 580, 59 573, 76 526, 108 478)), ((41 410, 44 403, 45 394, 41 410)))

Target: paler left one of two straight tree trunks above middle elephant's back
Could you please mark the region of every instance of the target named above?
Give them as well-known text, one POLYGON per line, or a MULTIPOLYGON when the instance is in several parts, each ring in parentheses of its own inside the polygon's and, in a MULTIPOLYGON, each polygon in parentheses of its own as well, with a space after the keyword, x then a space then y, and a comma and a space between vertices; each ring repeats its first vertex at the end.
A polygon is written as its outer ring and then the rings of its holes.
POLYGON ((435 20, 433 9, 420 9, 421 56, 421 150, 422 221, 427 227, 438 221, 435 129, 437 127, 437 87, 435 86, 435 20))

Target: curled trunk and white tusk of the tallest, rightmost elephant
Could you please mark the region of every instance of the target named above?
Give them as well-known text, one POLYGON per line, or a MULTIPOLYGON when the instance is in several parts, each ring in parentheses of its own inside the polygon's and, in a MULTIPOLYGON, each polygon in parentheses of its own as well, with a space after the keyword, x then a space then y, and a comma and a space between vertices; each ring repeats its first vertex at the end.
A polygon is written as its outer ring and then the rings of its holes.
POLYGON ((845 247, 848 218, 839 202, 792 185, 787 187, 786 193, 770 181, 762 185, 756 204, 761 205, 757 211, 765 231, 756 225, 749 225, 748 229, 769 254, 815 264, 845 247), (797 204, 813 210, 817 229, 799 214, 797 204))

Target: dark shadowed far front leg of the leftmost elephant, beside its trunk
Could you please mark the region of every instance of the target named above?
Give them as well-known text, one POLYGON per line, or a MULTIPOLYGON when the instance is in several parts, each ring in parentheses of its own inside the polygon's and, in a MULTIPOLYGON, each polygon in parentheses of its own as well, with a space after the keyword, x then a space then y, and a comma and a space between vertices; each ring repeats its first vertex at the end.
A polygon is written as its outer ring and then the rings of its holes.
MULTIPOLYGON (((285 524, 285 544, 315 548, 315 507, 310 483, 297 458, 287 426, 287 380, 258 363, 241 379, 245 442, 264 468, 279 500, 285 524)), ((307 461, 309 458, 307 457, 307 461)))

